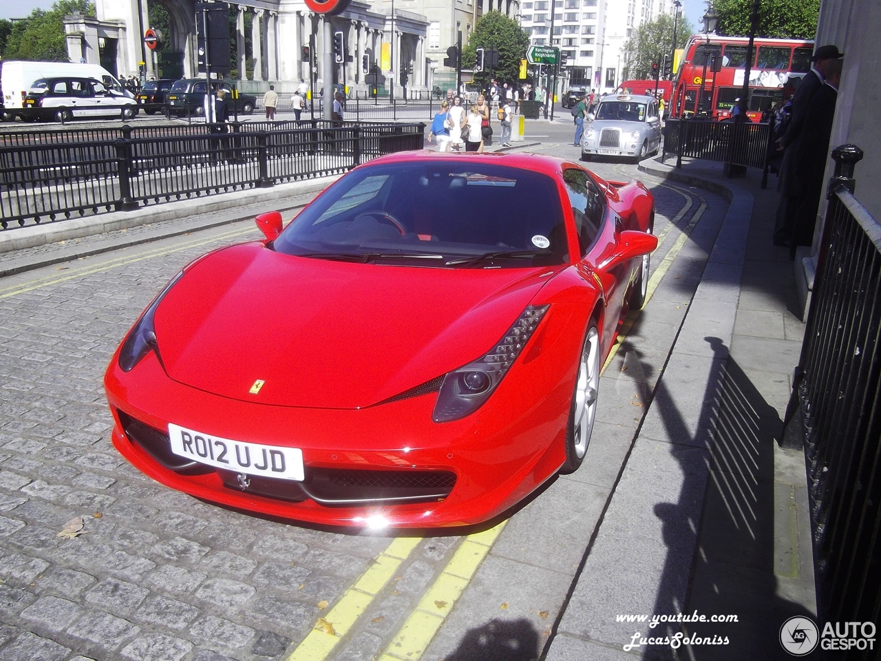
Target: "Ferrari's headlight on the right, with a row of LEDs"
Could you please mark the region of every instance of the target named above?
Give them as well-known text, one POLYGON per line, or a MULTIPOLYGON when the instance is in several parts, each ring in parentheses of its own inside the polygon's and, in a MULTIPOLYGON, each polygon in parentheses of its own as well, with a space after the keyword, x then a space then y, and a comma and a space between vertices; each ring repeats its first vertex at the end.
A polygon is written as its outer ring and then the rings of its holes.
POLYGON ((529 342, 549 307, 530 305, 489 353, 444 376, 432 420, 458 420, 484 405, 529 342))

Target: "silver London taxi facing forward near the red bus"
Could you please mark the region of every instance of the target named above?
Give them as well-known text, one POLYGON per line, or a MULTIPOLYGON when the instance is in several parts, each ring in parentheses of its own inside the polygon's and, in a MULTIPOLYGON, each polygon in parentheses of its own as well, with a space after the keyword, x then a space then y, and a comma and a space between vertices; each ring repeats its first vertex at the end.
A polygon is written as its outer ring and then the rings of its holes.
POLYGON ((581 160, 593 155, 631 156, 637 162, 661 148, 661 120, 652 96, 611 94, 584 121, 581 160))

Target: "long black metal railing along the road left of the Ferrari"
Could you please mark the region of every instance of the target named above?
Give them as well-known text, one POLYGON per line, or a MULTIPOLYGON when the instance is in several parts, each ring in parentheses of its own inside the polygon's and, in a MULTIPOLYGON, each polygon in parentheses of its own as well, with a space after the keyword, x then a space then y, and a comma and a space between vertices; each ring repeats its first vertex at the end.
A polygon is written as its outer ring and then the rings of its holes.
POLYGON ((261 123, 163 127, 160 135, 144 127, 124 131, 126 137, 113 130, 64 131, 65 141, 32 136, 29 144, 2 146, 0 225, 335 175, 424 145, 423 123, 279 124, 269 124, 272 130, 261 123), (167 134, 172 128, 177 135, 167 134))

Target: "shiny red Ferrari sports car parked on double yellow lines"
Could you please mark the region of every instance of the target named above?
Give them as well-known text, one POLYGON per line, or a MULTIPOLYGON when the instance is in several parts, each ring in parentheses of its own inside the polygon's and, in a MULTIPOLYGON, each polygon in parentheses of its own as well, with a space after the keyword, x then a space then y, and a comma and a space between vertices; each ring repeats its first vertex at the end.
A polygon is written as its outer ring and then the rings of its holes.
POLYGON ((581 464, 654 213, 640 182, 544 156, 356 167, 165 286, 107 368, 113 442, 238 509, 484 522, 581 464))

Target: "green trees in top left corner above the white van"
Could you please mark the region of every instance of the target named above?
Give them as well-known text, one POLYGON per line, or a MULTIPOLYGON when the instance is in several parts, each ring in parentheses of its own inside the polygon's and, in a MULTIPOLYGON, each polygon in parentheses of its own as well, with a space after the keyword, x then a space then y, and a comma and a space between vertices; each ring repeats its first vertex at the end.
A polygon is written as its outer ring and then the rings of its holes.
POLYGON ((4 60, 69 62, 62 19, 74 11, 94 16, 95 5, 88 0, 57 0, 49 11, 35 9, 25 20, 13 23, 5 42, 0 42, 4 60))

